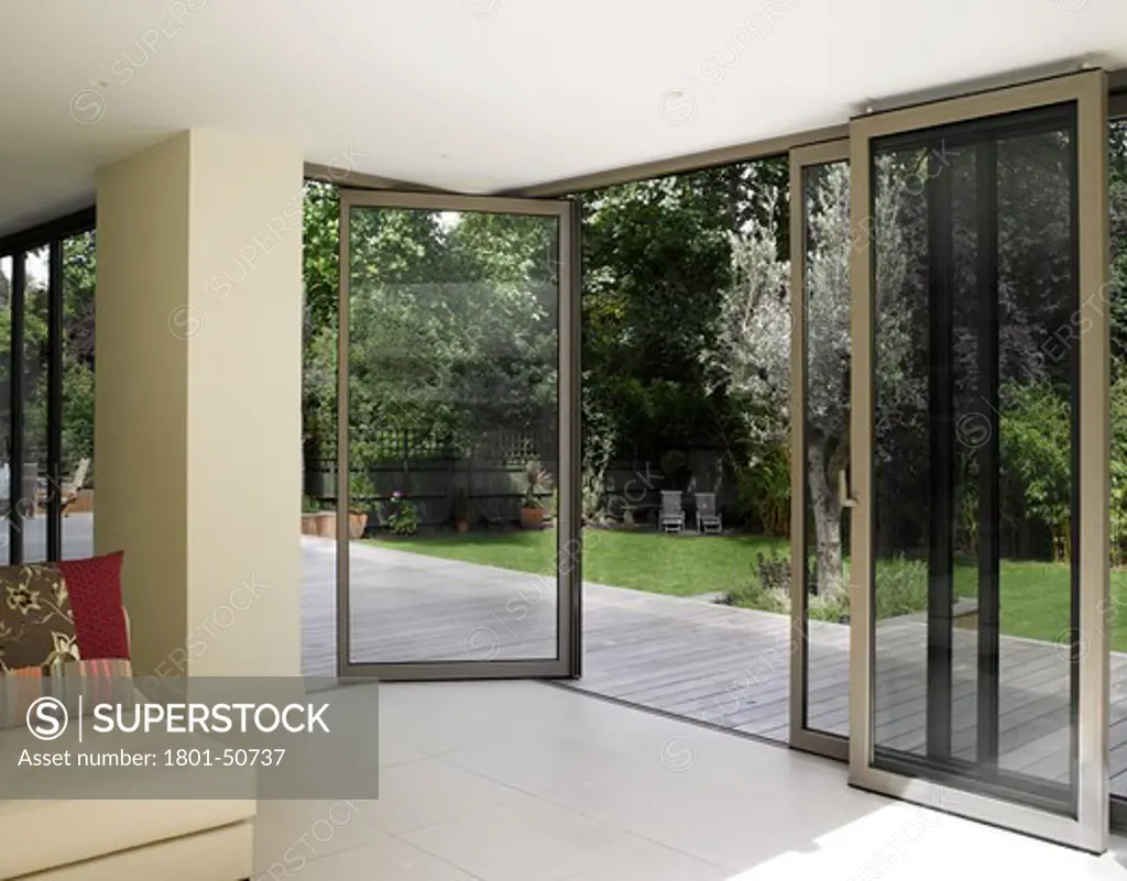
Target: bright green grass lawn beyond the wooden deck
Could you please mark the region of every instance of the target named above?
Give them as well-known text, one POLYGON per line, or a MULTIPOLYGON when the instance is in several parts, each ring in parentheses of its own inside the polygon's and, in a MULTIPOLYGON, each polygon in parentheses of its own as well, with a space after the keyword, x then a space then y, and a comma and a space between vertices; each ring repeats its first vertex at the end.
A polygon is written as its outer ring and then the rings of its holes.
MULTIPOLYGON (((464 560, 471 563, 550 572, 554 566, 556 532, 470 532, 435 536, 373 540, 401 551, 464 560)), ((727 591, 756 578, 758 554, 788 553, 786 539, 766 536, 662 535, 653 532, 588 531, 583 562, 584 580, 632 587, 655 594, 692 596, 727 591)), ((973 564, 958 564, 959 596, 977 590, 973 564)), ((1127 651, 1127 571, 1111 573, 1112 648, 1127 651)), ((1002 561, 1002 632, 1030 639, 1056 640, 1068 621, 1068 569, 1062 563, 1002 561)))

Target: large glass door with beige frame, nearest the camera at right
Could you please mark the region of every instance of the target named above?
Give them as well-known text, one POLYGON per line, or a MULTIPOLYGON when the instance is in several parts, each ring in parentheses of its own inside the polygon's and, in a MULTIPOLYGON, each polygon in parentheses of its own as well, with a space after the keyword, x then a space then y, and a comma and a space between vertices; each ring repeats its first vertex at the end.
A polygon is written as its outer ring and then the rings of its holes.
POLYGON ((1104 77, 850 140, 850 780, 1102 851, 1104 77))

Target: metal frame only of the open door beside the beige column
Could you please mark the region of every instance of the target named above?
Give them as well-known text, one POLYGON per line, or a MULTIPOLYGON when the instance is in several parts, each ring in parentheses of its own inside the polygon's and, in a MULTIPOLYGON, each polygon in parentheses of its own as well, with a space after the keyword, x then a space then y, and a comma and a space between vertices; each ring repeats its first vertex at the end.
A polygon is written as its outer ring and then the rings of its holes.
MULTIPOLYGON (((579 365, 579 205, 574 201, 467 196, 344 188, 340 194, 340 285, 337 333, 337 675, 384 680, 576 677, 583 662, 583 548, 580 533, 580 382, 579 365), (559 504, 556 555, 554 658, 520 660, 441 660, 354 662, 350 660, 348 593, 348 331, 350 282, 349 219, 355 207, 406 208, 556 217, 557 277, 557 430, 559 504)), ((547 575, 547 572, 545 572, 547 575)), ((543 576, 540 576, 543 577, 543 576)), ((541 589, 541 588, 538 588, 541 589)), ((520 593, 520 591, 518 591, 520 593)), ((529 598, 525 597, 527 600, 529 598)))

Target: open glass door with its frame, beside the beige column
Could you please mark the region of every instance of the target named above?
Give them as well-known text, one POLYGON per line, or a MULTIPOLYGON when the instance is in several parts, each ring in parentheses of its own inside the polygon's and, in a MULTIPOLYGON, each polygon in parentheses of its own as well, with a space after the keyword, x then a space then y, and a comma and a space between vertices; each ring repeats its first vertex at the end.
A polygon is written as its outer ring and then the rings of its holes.
POLYGON ((341 676, 573 676, 577 206, 341 190, 341 676))

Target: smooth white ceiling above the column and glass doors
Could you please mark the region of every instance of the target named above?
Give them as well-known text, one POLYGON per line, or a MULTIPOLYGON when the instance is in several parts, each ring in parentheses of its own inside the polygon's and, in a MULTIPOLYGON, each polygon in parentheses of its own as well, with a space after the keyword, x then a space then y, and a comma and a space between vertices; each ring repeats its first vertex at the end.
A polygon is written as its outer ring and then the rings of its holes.
POLYGON ((1080 57, 1125 0, 0 0, 0 233, 190 126, 494 192, 1080 57))

